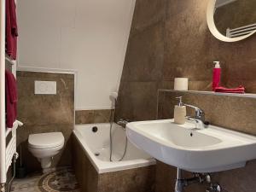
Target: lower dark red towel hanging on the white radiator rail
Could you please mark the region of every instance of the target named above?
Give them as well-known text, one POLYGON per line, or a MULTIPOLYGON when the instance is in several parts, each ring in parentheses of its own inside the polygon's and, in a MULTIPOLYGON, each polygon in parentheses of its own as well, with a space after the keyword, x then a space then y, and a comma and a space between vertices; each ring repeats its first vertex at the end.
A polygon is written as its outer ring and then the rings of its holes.
POLYGON ((12 128, 17 117, 17 84, 13 73, 5 70, 6 125, 12 128))

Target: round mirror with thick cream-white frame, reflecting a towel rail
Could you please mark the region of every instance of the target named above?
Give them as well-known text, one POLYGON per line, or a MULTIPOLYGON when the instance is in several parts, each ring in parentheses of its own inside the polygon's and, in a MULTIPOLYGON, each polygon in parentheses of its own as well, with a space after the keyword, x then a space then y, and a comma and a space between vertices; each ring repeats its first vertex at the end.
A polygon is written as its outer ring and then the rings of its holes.
POLYGON ((215 38, 236 42, 256 32, 256 0, 210 0, 207 24, 215 38))

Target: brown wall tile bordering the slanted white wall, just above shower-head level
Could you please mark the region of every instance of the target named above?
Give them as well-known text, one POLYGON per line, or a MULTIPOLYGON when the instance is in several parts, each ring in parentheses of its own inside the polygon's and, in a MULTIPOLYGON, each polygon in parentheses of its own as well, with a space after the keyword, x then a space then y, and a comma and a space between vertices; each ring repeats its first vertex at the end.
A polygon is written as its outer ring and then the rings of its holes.
POLYGON ((161 79, 161 68, 164 61, 163 24, 163 22, 159 22, 130 38, 122 81, 161 79))

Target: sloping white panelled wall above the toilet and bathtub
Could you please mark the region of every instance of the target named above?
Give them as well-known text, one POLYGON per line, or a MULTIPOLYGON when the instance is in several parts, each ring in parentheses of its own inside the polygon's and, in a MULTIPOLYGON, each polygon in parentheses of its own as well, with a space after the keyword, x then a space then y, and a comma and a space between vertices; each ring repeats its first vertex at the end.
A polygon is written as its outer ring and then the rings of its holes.
POLYGON ((110 108, 136 0, 18 1, 20 70, 78 72, 76 109, 110 108))

